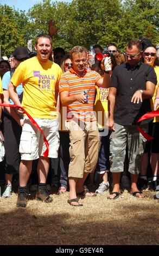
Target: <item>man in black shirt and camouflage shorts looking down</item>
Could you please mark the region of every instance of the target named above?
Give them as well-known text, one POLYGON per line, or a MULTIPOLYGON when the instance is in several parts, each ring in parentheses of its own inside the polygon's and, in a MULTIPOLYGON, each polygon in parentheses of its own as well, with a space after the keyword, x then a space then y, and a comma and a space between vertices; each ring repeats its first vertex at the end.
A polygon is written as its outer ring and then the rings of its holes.
MULTIPOLYGON (((137 120, 150 111, 149 99, 153 96, 157 83, 152 66, 142 63, 142 45, 139 40, 131 40, 126 47, 127 63, 116 66, 111 77, 109 92, 110 117, 110 164, 113 190, 109 199, 120 195, 120 175, 123 172, 125 149, 128 143, 131 193, 136 197, 145 195, 137 188, 141 169, 145 138, 137 130, 137 120)), ((141 124, 144 131, 148 124, 141 124)))

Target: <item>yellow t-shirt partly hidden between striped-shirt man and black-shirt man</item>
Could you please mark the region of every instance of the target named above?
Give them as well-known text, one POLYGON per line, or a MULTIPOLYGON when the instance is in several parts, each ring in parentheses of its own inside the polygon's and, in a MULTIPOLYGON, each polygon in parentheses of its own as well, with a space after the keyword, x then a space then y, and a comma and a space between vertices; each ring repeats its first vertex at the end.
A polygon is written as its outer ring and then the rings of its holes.
POLYGON ((99 129, 105 129, 108 126, 108 94, 109 88, 101 88, 96 86, 96 100, 94 103, 94 111, 96 111, 97 114, 97 123, 99 129))

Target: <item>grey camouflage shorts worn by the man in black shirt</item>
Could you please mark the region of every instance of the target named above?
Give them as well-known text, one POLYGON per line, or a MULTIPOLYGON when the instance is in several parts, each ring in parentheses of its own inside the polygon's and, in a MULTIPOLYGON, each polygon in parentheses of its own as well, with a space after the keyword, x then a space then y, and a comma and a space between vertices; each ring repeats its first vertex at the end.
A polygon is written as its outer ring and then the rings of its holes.
MULTIPOLYGON (((141 128, 147 132, 148 124, 141 128)), ((139 174, 144 153, 146 139, 137 130, 136 125, 115 124, 115 132, 110 136, 110 171, 120 173, 124 171, 126 144, 128 143, 129 172, 139 174)))

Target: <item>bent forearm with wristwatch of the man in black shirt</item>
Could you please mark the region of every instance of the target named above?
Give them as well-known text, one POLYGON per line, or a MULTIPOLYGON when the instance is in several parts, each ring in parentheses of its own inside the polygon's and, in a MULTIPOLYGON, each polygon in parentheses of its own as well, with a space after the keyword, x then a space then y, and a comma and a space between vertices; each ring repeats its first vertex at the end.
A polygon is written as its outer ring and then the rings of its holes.
POLYGON ((135 94, 133 94, 131 102, 133 103, 139 103, 139 101, 142 102, 144 99, 151 99, 151 97, 154 95, 155 92, 155 84, 147 81, 146 82, 146 89, 143 90, 143 93, 140 92, 140 90, 137 90, 135 94))

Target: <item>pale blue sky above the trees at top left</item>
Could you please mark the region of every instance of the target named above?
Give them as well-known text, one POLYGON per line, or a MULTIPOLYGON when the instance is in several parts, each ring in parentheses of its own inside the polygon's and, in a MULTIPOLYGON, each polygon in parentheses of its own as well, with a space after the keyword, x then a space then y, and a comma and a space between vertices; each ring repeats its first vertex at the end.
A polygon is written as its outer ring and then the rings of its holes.
MULTIPOLYGON (((57 2, 61 2, 62 0, 58 0, 57 2)), ((0 0, 0 4, 7 4, 11 7, 15 7, 15 9, 20 9, 20 10, 26 10, 28 11, 29 8, 33 7, 34 4, 37 3, 42 3, 42 0, 0 0)), ((50 1, 50 2, 55 2, 55 1, 50 1)), ((66 0, 63 2, 71 2, 71 0, 66 0)))

